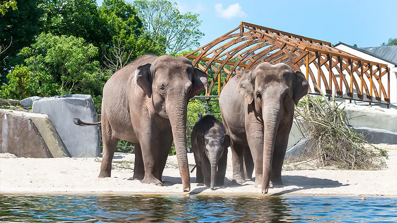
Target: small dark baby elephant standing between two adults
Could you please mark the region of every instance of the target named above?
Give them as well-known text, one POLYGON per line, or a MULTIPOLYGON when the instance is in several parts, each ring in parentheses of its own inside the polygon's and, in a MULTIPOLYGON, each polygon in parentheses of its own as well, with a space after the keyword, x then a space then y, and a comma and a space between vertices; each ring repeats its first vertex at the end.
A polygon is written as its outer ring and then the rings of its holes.
POLYGON ((230 137, 225 134, 223 124, 216 117, 205 115, 193 127, 191 142, 197 167, 196 183, 204 183, 211 190, 215 185, 224 185, 230 137))

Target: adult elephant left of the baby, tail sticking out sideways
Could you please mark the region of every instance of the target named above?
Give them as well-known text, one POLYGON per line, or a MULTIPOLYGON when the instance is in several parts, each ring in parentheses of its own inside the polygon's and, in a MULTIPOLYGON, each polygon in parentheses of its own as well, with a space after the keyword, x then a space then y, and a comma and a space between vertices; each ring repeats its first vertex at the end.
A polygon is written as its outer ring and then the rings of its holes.
MULTIPOLYGON (((110 177, 120 139, 135 146, 134 179, 162 184, 172 141, 182 178, 190 190, 186 115, 190 98, 206 89, 208 75, 185 57, 144 55, 110 77, 103 88, 103 158, 99 177, 110 177)), ((77 124, 95 125, 75 120, 77 124)))

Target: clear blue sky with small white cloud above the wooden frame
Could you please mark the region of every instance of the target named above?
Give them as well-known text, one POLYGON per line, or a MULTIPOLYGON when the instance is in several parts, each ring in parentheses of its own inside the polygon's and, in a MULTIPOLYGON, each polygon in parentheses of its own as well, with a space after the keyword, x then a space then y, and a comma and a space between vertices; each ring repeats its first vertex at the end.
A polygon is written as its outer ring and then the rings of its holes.
MULTIPOLYGON (((102 0, 97 0, 98 5, 102 0)), ((127 0, 127 2, 132 2, 127 0)), ((379 46, 397 38, 397 0, 171 0, 200 14, 204 45, 240 24, 253 23, 336 44, 379 46)))

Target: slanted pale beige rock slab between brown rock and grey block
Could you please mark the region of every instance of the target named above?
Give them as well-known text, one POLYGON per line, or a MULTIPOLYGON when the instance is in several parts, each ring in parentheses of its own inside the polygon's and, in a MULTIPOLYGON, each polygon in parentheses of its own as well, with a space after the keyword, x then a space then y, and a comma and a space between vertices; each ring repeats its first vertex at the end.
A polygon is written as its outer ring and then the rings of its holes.
POLYGON ((64 144, 62 143, 61 138, 56 132, 54 125, 52 125, 48 115, 40 114, 40 113, 21 112, 21 111, 13 111, 13 113, 25 115, 30 119, 32 119, 33 123, 35 123, 37 129, 39 130, 40 135, 44 139, 44 142, 46 143, 48 150, 50 150, 52 157, 54 158, 69 157, 67 151, 64 148, 64 144))

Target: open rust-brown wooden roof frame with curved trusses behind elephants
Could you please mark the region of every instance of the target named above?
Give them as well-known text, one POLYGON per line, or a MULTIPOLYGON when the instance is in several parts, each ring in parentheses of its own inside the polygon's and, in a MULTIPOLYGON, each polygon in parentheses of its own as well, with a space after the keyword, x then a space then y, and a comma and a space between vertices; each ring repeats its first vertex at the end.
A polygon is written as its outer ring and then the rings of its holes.
MULTIPOLYGON (((375 96, 376 102, 381 103, 383 99, 384 104, 390 104, 390 69, 386 64, 358 58, 334 48, 330 42, 276 29, 241 22, 237 28, 222 37, 183 56, 192 59, 193 65, 207 73, 208 69, 215 71, 216 75, 206 95, 211 95, 221 71, 227 73, 222 84, 224 86, 233 75, 258 63, 282 62, 296 71, 304 69, 303 73, 309 83, 312 81, 313 86, 325 89, 328 96, 336 93, 336 96, 343 98, 345 92, 347 98, 353 99, 353 92, 356 91, 356 100, 364 100, 365 91, 367 101, 374 102, 375 96), (324 71, 328 73, 328 78, 324 71), (387 79, 383 77, 386 74, 387 79), (387 91, 384 85, 387 85, 387 91)), ((220 82, 218 81, 218 93, 221 91, 220 82)), ((317 88, 314 90, 319 93, 317 88)))

